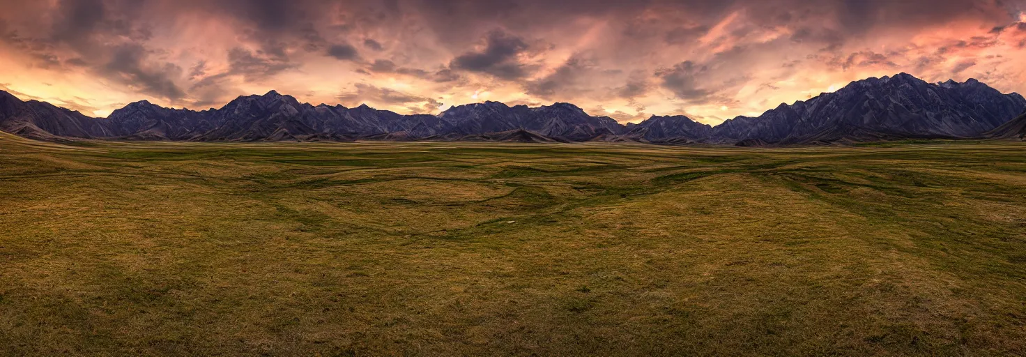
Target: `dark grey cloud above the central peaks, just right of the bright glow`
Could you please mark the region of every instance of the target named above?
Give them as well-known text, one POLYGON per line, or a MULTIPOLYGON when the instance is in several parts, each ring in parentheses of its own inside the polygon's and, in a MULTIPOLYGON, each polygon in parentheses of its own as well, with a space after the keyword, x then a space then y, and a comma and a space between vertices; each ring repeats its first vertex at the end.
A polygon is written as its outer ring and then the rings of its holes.
POLYGON ((457 56, 449 64, 452 69, 484 73, 497 78, 515 80, 529 74, 529 66, 521 64, 517 55, 527 49, 523 39, 501 30, 489 32, 481 51, 470 51, 457 56))

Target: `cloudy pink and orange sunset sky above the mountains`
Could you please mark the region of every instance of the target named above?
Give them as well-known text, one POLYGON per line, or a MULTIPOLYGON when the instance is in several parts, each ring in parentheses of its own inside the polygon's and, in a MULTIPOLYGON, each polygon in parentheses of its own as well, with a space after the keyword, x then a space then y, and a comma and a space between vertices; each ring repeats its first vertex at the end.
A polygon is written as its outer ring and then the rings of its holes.
POLYGON ((1026 0, 0 0, 0 89, 105 117, 271 89, 717 124, 905 72, 1026 93, 1026 0))

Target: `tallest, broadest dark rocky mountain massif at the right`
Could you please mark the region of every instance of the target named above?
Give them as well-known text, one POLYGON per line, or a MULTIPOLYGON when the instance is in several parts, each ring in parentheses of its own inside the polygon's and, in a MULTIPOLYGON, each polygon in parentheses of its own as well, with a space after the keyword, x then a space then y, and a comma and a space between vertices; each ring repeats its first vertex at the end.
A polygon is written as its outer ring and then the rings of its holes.
POLYGON ((738 117, 713 128, 711 141, 761 140, 778 144, 905 137, 973 137, 1026 108, 1017 93, 1002 94, 975 79, 926 83, 902 73, 852 82, 757 118, 738 117))

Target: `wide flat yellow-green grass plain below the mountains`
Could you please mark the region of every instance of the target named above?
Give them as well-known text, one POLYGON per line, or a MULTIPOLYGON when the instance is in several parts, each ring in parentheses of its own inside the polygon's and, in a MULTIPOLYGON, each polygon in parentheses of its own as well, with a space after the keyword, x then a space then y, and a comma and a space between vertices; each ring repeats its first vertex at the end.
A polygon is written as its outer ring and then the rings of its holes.
POLYGON ((997 142, 3 134, 0 355, 1023 355, 1024 172, 997 142))

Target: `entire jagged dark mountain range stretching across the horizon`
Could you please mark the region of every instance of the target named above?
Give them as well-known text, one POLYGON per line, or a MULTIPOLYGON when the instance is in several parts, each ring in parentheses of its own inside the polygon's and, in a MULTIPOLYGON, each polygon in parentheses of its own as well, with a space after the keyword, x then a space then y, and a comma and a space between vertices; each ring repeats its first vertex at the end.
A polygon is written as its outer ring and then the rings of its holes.
POLYGON ((0 130, 38 140, 126 141, 625 141, 739 146, 850 143, 900 138, 1019 137, 1026 100, 975 79, 928 83, 902 73, 843 88, 758 117, 710 126, 686 116, 638 124, 596 117, 571 104, 528 108, 485 102, 438 115, 400 115, 362 105, 313 106, 270 91, 220 109, 192 111, 135 102, 92 118, 0 91, 0 130), (1018 135, 1018 136, 1017 136, 1018 135))

